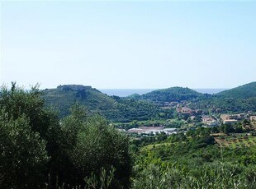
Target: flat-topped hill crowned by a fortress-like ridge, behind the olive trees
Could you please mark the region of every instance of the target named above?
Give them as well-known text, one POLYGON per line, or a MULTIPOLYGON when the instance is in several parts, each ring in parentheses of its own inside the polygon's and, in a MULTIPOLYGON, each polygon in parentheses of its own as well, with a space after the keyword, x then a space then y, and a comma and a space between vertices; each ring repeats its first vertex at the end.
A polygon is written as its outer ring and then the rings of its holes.
POLYGON ((69 115, 69 109, 76 103, 86 106, 90 113, 100 113, 113 122, 148 120, 159 114, 159 107, 152 103, 108 96, 91 86, 59 85, 56 89, 43 90, 42 97, 47 106, 59 112, 60 118, 69 115))

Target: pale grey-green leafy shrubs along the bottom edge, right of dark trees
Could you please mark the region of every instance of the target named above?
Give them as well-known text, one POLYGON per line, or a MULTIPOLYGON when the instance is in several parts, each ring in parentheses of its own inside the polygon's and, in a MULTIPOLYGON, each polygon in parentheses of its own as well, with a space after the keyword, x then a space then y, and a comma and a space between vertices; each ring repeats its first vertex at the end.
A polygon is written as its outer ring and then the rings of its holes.
MULTIPOLYGON (((150 164, 140 176, 135 178, 133 188, 254 188, 249 175, 241 177, 236 166, 218 163, 203 166, 196 173, 183 173, 177 168, 165 168, 164 171, 150 164)), ((255 175, 254 175, 255 176, 255 175)), ((254 177, 255 179, 256 177, 254 177)))

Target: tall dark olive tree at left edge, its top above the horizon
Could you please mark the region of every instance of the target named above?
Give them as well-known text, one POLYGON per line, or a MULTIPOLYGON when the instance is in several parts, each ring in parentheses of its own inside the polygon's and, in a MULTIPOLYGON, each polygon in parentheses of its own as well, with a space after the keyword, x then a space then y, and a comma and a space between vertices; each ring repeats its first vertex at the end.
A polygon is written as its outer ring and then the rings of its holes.
POLYGON ((18 188, 35 188, 45 182, 48 173, 57 175, 59 120, 55 113, 45 109, 37 85, 29 91, 17 87, 16 83, 12 83, 11 90, 3 86, 0 110, 2 153, 11 155, 2 156, 2 164, 9 171, 5 173, 9 175, 6 183, 13 182, 18 188), (8 163, 9 159, 13 164, 8 163))

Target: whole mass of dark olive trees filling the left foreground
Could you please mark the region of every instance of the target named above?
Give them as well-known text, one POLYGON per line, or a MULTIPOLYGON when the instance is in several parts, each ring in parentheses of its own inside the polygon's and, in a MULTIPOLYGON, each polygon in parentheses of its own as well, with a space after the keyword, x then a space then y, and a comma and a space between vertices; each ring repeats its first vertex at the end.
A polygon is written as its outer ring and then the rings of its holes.
POLYGON ((40 91, 0 92, 1 188, 129 188, 126 135, 74 106, 59 120, 40 91))

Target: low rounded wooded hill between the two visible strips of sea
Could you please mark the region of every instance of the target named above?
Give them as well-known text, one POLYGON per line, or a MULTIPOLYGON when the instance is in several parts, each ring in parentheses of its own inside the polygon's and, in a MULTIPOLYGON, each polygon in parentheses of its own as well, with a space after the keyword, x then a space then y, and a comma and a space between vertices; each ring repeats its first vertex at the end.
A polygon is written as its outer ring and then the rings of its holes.
POLYGON ((193 100, 201 96, 203 95, 198 93, 196 90, 176 86, 164 90, 154 90, 145 95, 131 95, 128 98, 146 99, 155 103, 164 103, 173 101, 180 102, 182 100, 193 100))

